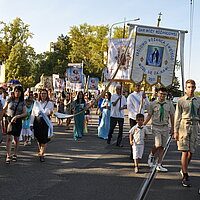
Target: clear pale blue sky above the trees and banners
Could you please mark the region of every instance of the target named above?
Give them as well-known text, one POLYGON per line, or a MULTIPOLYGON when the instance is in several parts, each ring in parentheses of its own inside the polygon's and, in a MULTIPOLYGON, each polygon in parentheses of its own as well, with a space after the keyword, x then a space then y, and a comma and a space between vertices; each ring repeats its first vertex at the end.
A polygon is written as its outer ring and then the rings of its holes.
POLYGON ((191 0, 0 0, 0 21, 9 23, 19 17, 25 24, 29 24, 30 31, 34 33, 29 43, 37 53, 42 53, 49 51, 50 42, 56 42, 58 36, 67 35, 72 26, 83 23, 111 26, 124 19, 135 18, 140 18, 136 24, 156 26, 158 13, 161 12, 160 27, 189 31, 185 40, 184 78, 194 79, 197 90, 200 91, 200 1, 193 0, 191 57, 190 2, 191 0))

